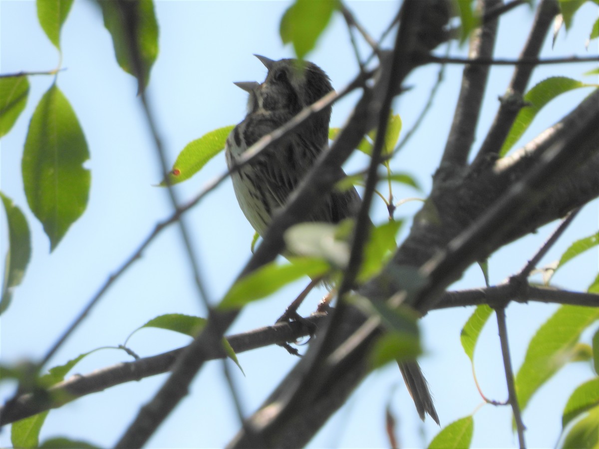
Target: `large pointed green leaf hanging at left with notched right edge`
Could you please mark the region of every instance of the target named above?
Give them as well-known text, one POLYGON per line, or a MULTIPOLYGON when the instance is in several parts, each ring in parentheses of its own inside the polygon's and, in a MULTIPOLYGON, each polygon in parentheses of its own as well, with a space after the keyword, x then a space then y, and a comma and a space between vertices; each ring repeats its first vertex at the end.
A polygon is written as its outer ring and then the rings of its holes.
POLYGON ((87 206, 87 142, 77 116, 53 84, 35 108, 23 151, 23 184, 29 208, 54 250, 87 206))

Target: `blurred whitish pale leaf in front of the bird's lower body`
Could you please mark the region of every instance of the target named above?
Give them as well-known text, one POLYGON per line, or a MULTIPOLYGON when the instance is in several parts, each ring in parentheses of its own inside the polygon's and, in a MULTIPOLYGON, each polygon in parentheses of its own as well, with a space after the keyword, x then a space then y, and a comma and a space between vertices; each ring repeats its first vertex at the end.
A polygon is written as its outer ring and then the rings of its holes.
POLYGON ((291 226, 283 238, 288 251, 297 256, 316 257, 331 263, 335 268, 345 268, 349 262, 349 235, 353 220, 339 225, 331 223, 299 223, 291 226), (346 227, 346 230, 340 229, 346 227))

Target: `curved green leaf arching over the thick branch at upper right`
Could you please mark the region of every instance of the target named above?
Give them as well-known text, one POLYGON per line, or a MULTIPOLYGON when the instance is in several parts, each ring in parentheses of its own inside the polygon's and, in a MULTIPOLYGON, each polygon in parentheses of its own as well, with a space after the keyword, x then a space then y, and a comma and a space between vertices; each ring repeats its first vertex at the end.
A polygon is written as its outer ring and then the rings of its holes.
POLYGON ((504 156, 518 139, 528 129, 539 111, 556 96, 579 87, 589 87, 592 84, 582 83, 567 77, 551 77, 541 81, 524 95, 525 104, 516 116, 506 141, 501 147, 500 156, 504 156))

